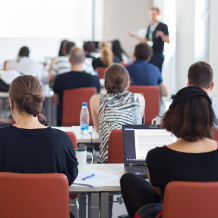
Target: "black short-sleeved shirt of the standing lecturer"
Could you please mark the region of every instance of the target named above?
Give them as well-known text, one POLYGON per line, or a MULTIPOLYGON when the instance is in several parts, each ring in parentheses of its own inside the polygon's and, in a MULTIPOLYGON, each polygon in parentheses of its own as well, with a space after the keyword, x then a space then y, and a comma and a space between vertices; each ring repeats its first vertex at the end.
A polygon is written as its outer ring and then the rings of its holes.
MULTIPOLYGON (((148 30, 147 30, 147 33, 146 33, 146 36, 145 38, 149 40, 149 32, 150 32, 150 28, 151 28, 151 25, 149 25, 148 27, 148 30)), ((159 23, 157 25, 157 27, 155 28, 154 32, 153 32, 153 37, 152 37, 152 41, 153 41, 153 54, 161 54, 163 53, 163 50, 164 50, 164 42, 163 40, 161 39, 161 37, 158 37, 158 38, 155 38, 155 34, 157 31, 162 31, 164 33, 164 35, 169 35, 169 31, 168 31, 168 27, 165 23, 159 23)))

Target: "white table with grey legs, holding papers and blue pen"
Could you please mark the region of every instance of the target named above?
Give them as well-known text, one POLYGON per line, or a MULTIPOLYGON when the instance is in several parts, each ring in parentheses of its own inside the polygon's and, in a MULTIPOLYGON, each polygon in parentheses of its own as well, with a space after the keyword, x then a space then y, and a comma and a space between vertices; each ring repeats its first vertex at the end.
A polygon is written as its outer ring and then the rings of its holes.
MULTIPOLYGON (((86 169, 119 175, 125 173, 124 164, 92 164, 86 169)), ((109 192, 120 192, 120 178, 98 187, 88 187, 72 184, 69 187, 70 194, 79 194, 79 218, 86 217, 86 194, 88 195, 88 217, 109 218, 109 192)))

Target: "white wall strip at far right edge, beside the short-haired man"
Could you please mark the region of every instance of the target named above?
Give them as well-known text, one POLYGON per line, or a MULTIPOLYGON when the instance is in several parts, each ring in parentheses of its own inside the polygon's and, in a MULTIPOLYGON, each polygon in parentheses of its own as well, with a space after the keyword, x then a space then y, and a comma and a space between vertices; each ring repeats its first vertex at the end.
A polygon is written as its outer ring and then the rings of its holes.
POLYGON ((217 58, 217 51, 218 51, 218 28, 217 28, 217 21, 218 21, 218 1, 217 0, 210 0, 210 51, 209 51, 209 63, 211 64, 213 71, 214 71, 214 82, 215 87, 213 90, 213 94, 218 96, 218 58, 217 58))

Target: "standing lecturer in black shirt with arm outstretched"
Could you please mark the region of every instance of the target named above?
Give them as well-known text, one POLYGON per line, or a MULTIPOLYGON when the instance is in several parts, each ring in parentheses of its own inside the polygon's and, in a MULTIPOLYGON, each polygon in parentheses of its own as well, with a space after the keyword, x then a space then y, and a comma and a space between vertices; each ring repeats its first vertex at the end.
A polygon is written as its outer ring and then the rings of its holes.
POLYGON ((148 43, 153 48, 153 55, 149 63, 157 66, 162 72, 164 61, 164 43, 170 43, 169 31, 167 25, 160 22, 159 8, 151 8, 149 11, 149 17, 151 24, 148 26, 145 38, 140 38, 136 33, 133 32, 129 32, 129 35, 137 38, 141 42, 148 43))

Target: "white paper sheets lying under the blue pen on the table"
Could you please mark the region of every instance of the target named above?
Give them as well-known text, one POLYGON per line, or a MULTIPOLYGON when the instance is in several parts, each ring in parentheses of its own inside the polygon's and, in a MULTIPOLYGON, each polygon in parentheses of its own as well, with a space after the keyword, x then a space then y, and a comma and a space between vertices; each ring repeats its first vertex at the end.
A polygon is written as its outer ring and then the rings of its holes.
POLYGON ((79 173, 78 177, 74 181, 74 184, 95 187, 95 186, 100 186, 104 183, 111 182, 115 179, 118 179, 119 177, 120 176, 118 175, 102 173, 96 170, 87 170, 79 173), (83 178, 91 176, 92 174, 95 174, 95 176, 82 181, 83 178))

